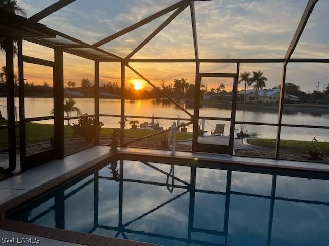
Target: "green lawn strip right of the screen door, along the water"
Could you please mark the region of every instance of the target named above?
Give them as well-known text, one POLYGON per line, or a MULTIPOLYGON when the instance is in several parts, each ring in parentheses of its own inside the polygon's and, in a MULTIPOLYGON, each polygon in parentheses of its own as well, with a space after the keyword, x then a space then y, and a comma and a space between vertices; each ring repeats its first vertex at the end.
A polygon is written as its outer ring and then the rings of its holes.
MULTIPOLYGON (((251 145, 274 149, 276 139, 250 138, 248 142, 251 145)), ((280 150, 285 152, 306 154, 313 148, 314 143, 312 141, 280 140, 280 150)), ((321 151, 322 154, 329 154, 329 142, 318 142, 318 151, 321 151)))

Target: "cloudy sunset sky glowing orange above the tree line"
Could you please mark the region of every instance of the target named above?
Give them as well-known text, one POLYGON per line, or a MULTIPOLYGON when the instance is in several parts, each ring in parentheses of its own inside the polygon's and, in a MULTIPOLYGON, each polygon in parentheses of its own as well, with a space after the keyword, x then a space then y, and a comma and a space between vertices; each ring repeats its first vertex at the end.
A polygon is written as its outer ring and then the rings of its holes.
MULTIPOLYGON (((19 0, 27 17, 56 0, 19 0)), ((177 0, 78 0, 41 20, 42 24, 93 44, 98 40, 147 17, 177 0)), ((213 0, 195 2, 200 58, 283 58, 289 46, 307 0, 213 0)), ((293 58, 329 58, 329 1, 319 1, 309 19, 293 58)), ((152 23, 103 45, 102 49, 119 56, 129 54, 171 13, 152 23)), ((24 43, 24 54, 53 60, 53 51, 24 43)), ((163 29, 133 58, 194 58, 190 9, 187 8, 163 29)), ((65 83, 80 84, 82 78, 93 80, 93 62, 72 55, 64 56, 65 83)), ((0 66, 5 65, 4 55, 0 66)), ((137 71, 159 85, 161 80, 172 83, 174 78, 188 78, 194 83, 195 64, 131 64, 137 71)), ((235 64, 202 64, 202 72, 235 72, 235 64)), ((261 70, 268 78, 267 88, 280 84, 282 64, 241 64, 240 72, 261 70)), ((42 68, 42 67, 41 67, 42 68)), ((308 92, 329 83, 326 64, 289 64, 287 82, 308 92)), ((126 79, 139 79, 126 72, 126 79)), ((25 78, 34 84, 48 81, 51 71, 26 65, 25 78)), ((120 64, 100 65, 101 83, 120 81, 120 64)), ((129 83, 129 82, 128 82, 129 83)), ((207 81, 206 81, 207 83, 207 81)), ((209 81, 208 89, 215 87, 209 81)), ((240 89, 242 89, 242 85, 240 89)))

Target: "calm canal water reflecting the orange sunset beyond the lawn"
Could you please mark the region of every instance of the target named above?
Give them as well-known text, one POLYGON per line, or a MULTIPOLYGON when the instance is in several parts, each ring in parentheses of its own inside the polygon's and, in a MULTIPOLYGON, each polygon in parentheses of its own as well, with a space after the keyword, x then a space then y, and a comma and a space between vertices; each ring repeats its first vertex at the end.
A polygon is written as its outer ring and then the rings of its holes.
MULTIPOLYGON (((83 114, 94 114, 94 99, 92 98, 75 98, 76 107, 78 107, 83 114)), ((6 98, 0 98, 0 111, 3 117, 7 118, 6 98)), ((18 98, 15 99, 15 105, 19 106, 18 98)), ((187 111, 193 114, 193 106, 182 104, 187 111)), ((52 98, 25 98, 25 117, 41 117, 49 116, 53 108, 52 98)), ((245 122, 263 122, 263 123, 276 123, 278 120, 278 109, 276 107, 255 107, 248 109, 238 109, 236 111, 236 121, 245 122)), ((120 99, 100 99, 100 114, 120 114, 120 99)), ((189 116, 174 104, 170 103, 167 99, 144 99, 144 100, 126 100, 125 101, 125 114, 132 116, 152 116, 155 117, 180 117, 182 119, 189 118, 189 116)), ((224 117, 229 118, 231 110, 229 107, 206 106, 200 108, 200 116, 208 117, 224 117)), ((72 113, 71 116, 76 116, 72 113)), ((18 108, 17 108, 18 117, 18 108)), ((300 111, 298 109, 285 110, 282 122, 286 124, 299 124, 299 125, 315 125, 315 126, 328 126, 329 111, 300 111)), ((119 127, 118 117, 100 117, 104 123, 104 127, 119 127)), ((127 128, 130 128, 129 120, 127 118, 127 128)), ((151 119, 136 119, 139 123, 151 121, 151 119)), ((163 128, 168 128, 173 120, 160 120, 159 124, 163 128)), ((42 121, 45 124, 52 124, 52 120, 42 121)), ((74 122, 74 121, 72 121, 74 122)), ((187 122, 181 120, 180 122, 187 122)), ((200 122, 201 124, 201 122, 200 122)), ((216 124, 225 124, 225 135, 229 133, 230 122, 228 121, 214 121, 206 120, 204 128, 210 134, 211 129, 215 128, 216 124)), ((235 125, 236 129, 241 128, 241 124, 235 125)), ((254 133, 261 138, 275 138, 276 127, 273 126, 254 126, 246 125, 245 131, 254 133)), ((192 125, 188 126, 188 131, 192 131, 192 125)), ((329 130, 326 129, 309 129, 309 128, 293 128, 282 127, 281 139, 291 140, 305 140, 310 141, 313 137, 319 141, 329 141, 329 130)))

